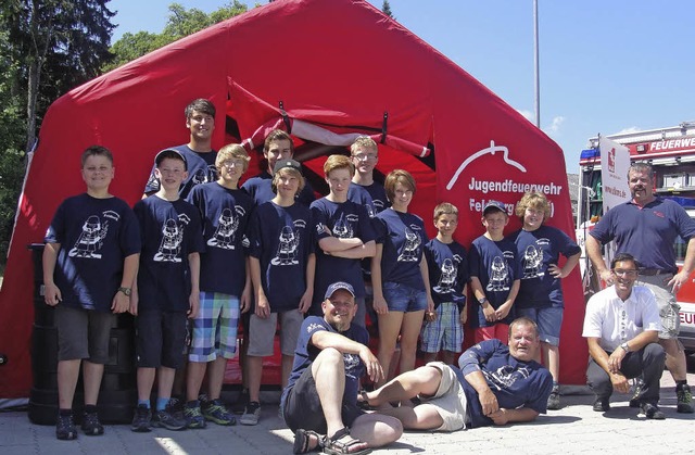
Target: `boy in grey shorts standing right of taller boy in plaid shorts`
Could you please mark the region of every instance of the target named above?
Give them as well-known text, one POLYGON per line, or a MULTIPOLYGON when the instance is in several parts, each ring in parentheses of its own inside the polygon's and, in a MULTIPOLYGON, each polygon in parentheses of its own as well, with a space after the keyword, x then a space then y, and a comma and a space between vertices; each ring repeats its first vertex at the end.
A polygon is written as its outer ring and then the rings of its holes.
POLYGON ((241 425, 258 422, 263 357, 273 355, 278 319, 285 387, 292 370, 300 326, 312 304, 316 264, 314 223, 309 208, 295 202, 303 186, 300 163, 278 160, 273 178, 276 195, 255 210, 249 228, 255 311, 249 321, 249 403, 239 419, 241 425))

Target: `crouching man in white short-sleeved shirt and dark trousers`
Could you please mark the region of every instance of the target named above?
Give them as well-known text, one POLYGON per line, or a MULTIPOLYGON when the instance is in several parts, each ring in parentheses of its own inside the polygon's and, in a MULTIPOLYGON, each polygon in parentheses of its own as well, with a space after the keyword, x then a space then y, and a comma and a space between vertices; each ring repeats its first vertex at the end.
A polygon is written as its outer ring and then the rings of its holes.
POLYGON ((652 291, 634 286, 637 269, 632 255, 616 255, 610 264, 614 286, 594 294, 586 304, 582 332, 590 354, 586 382, 596 393, 594 410, 607 412, 614 389, 628 393, 628 379, 642 375, 641 413, 648 419, 664 419, 658 406, 666 362, 658 343, 661 319, 652 291))

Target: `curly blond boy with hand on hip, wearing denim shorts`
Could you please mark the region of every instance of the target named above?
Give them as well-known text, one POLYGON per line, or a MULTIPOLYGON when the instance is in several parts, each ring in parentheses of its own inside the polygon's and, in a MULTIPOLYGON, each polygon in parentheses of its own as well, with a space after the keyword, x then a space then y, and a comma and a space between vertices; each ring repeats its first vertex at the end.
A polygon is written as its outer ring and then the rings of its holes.
POLYGON ((561 230, 544 225, 551 216, 551 204, 545 194, 523 194, 516 214, 523 226, 507 238, 517 247, 521 278, 515 307, 518 316, 526 316, 539 325, 543 358, 553 375, 553 393, 547 408, 559 409, 559 344, 565 307, 561 279, 577 266, 581 249, 561 230), (558 264, 560 254, 567 257, 563 267, 558 264))

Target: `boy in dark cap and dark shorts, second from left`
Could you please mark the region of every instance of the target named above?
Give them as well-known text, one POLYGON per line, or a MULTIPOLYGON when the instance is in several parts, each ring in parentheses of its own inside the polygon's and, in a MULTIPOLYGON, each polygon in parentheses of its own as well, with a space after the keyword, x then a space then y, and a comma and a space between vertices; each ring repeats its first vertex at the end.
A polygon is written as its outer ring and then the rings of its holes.
POLYGON ((188 176, 178 151, 163 150, 155 157, 161 182, 153 195, 135 204, 140 222, 142 252, 130 312, 137 315, 138 405, 131 430, 150 431, 150 421, 169 430, 186 428, 186 420, 169 408, 176 369, 184 363, 187 317, 198 314, 200 252, 203 235, 200 213, 179 198, 188 176), (150 393, 157 376, 156 413, 150 412, 150 393))

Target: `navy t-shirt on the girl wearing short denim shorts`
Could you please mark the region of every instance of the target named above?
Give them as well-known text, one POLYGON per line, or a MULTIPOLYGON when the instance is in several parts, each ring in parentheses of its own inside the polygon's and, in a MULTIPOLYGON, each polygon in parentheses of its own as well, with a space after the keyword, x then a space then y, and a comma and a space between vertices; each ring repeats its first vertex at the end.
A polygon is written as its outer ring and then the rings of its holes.
POLYGON ((392 281, 425 290, 420 261, 428 238, 422 218, 412 213, 387 208, 374 219, 377 242, 383 244, 381 282, 392 281))

